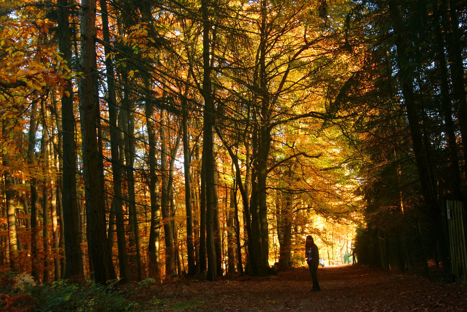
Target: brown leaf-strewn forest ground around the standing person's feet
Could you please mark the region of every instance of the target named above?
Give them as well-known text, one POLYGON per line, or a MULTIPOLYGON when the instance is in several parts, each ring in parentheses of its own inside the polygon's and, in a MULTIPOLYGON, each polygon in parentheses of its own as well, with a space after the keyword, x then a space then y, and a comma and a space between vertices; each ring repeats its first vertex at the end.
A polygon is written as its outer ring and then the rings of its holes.
POLYGON ((136 311, 467 311, 465 284, 351 265, 320 267, 318 280, 321 291, 311 291, 308 268, 218 282, 180 279, 136 292, 133 301, 136 311))

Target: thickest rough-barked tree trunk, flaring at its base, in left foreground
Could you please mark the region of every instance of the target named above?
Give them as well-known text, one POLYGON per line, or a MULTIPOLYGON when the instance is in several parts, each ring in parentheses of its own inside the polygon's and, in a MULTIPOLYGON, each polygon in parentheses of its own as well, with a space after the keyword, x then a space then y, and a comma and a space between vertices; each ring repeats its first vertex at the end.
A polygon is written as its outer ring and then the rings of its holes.
POLYGON ((93 76, 96 67, 96 1, 84 0, 81 5, 81 72, 79 79, 80 120, 85 181, 88 249, 92 257, 96 283, 105 285, 115 279, 112 258, 107 248, 106 215, 101 181, 101 159, 97 145, 97 101, 93 76))

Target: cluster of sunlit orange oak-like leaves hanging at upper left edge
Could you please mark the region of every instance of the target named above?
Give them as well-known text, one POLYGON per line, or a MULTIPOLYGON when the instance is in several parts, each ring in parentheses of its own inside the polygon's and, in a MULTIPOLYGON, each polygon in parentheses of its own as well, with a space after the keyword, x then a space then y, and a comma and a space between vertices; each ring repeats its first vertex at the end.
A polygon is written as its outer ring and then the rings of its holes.
MULTIPOLYGON (((48 19, 34 22, 22 18, 0 20, 0 101, 8 106, 22 103, 32 94, 61 87, 74 75, 53 44, 46 42, 50 27, 48 19)), ((21 105, 20 105, 21 106, 21 105)))

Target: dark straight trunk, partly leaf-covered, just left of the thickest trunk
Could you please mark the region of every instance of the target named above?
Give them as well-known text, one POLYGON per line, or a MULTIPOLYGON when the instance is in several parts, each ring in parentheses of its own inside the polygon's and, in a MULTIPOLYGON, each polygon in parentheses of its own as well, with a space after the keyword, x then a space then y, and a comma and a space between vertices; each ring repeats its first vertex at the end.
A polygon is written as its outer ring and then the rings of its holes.
MULTIPOLYGON (((58 0, 58 44, 64 60, 71 65, 71 33, 69 27, 69 0, 58 0)), ((78 276, 84 278, 83 253, 79 229, 79 210, 76 193, 76 146, 75 115, 73 111, 73 86, 67 80, 67 86, 61 99, 62 103, 62 142, 63 174, 63 245, 65 250, 64 278, 78 276)), ((62 219, 61 218, 61 219, 62 219)))

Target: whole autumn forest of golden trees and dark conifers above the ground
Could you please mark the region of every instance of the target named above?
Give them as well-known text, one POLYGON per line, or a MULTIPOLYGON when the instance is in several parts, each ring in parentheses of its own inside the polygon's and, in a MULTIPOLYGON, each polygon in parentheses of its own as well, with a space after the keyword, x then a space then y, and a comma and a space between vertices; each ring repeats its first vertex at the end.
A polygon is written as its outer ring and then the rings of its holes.
POLYGON ((466 28, 460 0, 3 0, 0 272, 267 276, 311 234, 452 279, 466 28))

